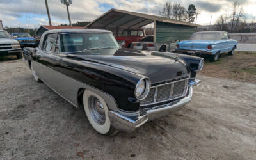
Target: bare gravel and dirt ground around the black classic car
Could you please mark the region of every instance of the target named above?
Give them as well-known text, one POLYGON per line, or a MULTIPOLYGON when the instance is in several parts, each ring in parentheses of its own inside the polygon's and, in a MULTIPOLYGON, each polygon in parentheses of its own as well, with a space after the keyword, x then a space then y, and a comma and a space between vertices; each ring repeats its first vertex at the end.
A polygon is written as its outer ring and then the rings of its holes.
POLYGON ((22 60, 1 62, 0 159, 255 159, 256 85, 199 78, 186 108, 108 137, 22 60))

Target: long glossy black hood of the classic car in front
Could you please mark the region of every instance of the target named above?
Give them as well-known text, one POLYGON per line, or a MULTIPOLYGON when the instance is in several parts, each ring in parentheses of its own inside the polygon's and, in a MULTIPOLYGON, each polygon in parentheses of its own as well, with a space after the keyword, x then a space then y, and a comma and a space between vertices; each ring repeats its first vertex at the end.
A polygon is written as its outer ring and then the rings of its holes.
POLYGON ((81 54, 68 54, 68 56, 101 63, 134 74, 140 74, 141 76, 147 76, 151 79, 152 84, 189 76, 189 71, 185 63, 177 61, 174 58, 150 56, 129 49, 118 49, 113 52, 114 54, 112 55, 104 56, 81 54), (177 76, 177 72, 182 72, 182 74, 177 76))

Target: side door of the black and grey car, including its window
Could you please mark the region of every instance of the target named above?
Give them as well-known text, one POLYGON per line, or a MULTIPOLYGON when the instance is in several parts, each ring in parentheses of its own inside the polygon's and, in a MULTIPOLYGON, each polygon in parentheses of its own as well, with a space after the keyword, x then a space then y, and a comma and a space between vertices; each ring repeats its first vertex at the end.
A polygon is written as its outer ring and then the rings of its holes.
POLYGON ((44 42, 41 48, 36 51, 36 60, 33 61, 36 74, 52 88, 56 84, 56 74, 54 65, 56 58, 58 58, 57 33, 45 35, 44 42), (56 52, 57 51, 57 52, 56 52))

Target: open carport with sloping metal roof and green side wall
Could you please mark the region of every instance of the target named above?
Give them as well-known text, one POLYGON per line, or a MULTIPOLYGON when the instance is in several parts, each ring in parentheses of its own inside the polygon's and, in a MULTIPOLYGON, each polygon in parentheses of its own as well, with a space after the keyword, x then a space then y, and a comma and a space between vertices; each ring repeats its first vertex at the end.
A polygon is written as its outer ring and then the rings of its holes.
POLYGON ((154 42, 175 42, 188 39, 196 31, 197 24, 168 19, 156 15, 116 10, 112 8, 100 15, 85 28, 107 29, 120 36, 124 29, 141 28, 154 23, 154 42))

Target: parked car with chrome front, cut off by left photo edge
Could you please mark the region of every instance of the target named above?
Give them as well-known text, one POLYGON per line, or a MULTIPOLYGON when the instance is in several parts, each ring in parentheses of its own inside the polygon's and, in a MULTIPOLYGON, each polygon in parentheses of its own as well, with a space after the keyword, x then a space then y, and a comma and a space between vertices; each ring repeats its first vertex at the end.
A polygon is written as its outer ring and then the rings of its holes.
POLYGON ((22 58, 22 49, 17 40, 7 32, 0 30, 0 56, 15 55, 17 58, 22 58))

